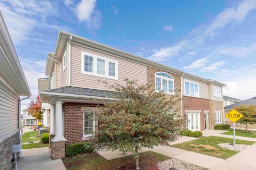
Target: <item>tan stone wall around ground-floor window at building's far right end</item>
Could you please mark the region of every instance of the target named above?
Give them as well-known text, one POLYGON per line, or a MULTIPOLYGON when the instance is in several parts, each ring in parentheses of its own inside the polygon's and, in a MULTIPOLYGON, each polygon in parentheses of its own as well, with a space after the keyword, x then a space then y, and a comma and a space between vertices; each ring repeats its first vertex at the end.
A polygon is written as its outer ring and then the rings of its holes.
POLYGON ((214 129, 215 126, 215 111, 221 111, 222 113, 222 123, 223 120, 223 101, 210 100, 210 129, 214 129))

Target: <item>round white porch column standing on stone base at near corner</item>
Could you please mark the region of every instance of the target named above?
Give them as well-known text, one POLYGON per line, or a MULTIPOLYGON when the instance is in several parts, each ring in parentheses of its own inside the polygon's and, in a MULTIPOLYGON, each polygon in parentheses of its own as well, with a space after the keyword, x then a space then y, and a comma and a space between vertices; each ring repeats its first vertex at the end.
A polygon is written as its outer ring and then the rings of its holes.
POLYGON ((55 137, 54 141, 67 141, 63 135, 62 101, 55 101, 55 137))

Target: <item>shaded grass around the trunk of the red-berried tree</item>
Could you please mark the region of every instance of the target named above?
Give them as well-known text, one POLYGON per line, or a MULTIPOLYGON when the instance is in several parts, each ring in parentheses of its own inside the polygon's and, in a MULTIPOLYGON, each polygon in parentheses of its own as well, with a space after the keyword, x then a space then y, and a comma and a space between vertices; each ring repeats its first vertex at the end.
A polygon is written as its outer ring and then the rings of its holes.
MULTIPOLYGON (((163 162, 170 157, 157 154, 153 151, 142 152, 139 154, 140 169, 155 170, 157 163, 163 162)), ((107 160, 93 152, 84 157, 78 158, 65 158, 63 163, 68 170, 86 169, 86 170, 112 170, 112 169, 135 169, 135 158, 133 156, 126 156, 107 160)))

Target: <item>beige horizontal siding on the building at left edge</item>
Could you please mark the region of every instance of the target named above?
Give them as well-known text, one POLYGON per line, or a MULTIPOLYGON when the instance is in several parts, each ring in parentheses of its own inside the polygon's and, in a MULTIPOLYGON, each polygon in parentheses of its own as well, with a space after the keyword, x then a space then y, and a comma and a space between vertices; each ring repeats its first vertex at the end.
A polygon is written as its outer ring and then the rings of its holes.
POLYGON ((19 120, 19 96, 0 81, 0 139, 17 131, 19 120))

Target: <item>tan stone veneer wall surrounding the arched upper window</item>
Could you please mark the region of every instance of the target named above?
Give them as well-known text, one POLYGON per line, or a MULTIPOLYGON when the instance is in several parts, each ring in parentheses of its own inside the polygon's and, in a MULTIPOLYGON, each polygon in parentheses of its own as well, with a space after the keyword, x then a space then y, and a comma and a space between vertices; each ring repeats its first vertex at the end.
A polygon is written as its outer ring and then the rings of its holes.
MULTIPOLYGON (((155 88, 155 73, 166 72, 166 71, 156 69, 155 67, 151 67, 151 66, 148 66, 147 70, 148 70, 147 72, 148 84, 151 84, 155 88)), ((177 101, 174 108, 177 109, 178 114, 181 115, 181 80, 180 80, 181 76, 171 72, 166 72, 166 73, 170 74, 174 79, 174 92, 175 92, 174 100, 177 101)), ((166 96, 171 97, 172 95, 166 95, 166 96)))

